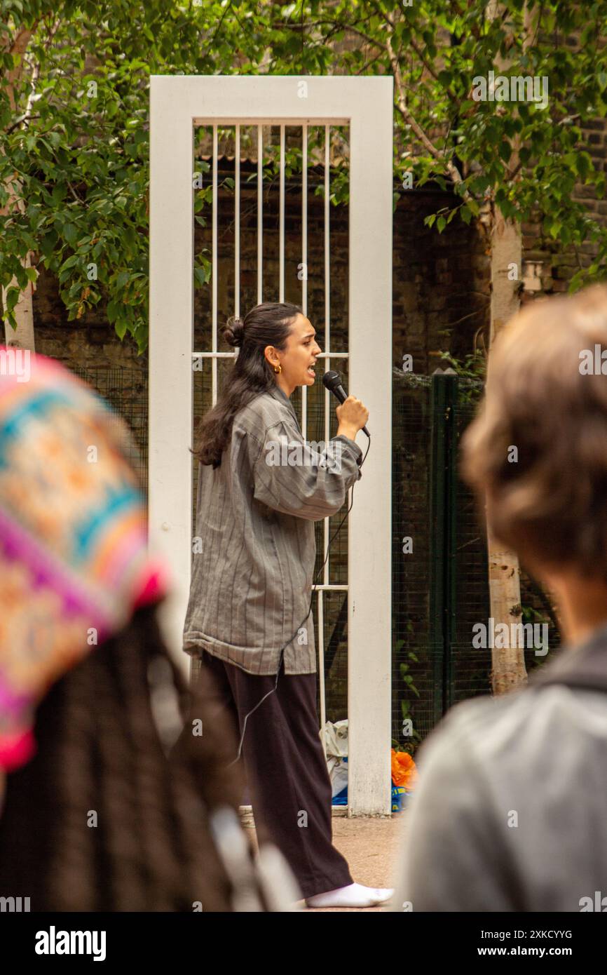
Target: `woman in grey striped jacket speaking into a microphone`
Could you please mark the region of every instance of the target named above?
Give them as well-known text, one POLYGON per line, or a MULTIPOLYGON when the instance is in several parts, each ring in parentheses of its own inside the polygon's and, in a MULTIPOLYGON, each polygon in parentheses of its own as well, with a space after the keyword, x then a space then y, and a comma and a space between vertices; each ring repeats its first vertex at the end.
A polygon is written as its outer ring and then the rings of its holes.
POLYGON ((301 309, 259 304, 224 334, 239 354, 193 451, 201 466, 183 647, 234 716, 258 838, 282 851, 309 907, 371 907, 392 891, 355 883, 332 844, 311 612, 314 523, 339 511, 360 479, 355 441, 368 410, 349 396, 336 437, 312 449, 289 399, 314 384, 321 352, 301 309))

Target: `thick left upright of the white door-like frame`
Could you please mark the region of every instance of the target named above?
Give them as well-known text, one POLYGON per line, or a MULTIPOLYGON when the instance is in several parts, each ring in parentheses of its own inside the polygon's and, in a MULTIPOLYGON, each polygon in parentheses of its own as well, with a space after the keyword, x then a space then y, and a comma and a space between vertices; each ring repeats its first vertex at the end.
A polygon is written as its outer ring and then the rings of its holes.
POLYGON ((159 619, 187 680, 181 635, 192 558, 194 128, 191 117, 172 110, 172 80, 150 78, 148 538, 170 571, 159 619))

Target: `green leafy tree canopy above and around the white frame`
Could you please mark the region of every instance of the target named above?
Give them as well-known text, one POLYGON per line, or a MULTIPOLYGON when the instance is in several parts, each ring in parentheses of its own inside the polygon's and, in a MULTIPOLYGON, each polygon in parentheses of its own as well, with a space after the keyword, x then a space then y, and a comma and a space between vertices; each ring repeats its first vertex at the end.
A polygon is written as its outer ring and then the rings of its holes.
MULTIPOLYGON (((150 73, 390 73, 395 206, 410 178, 453 190, 453 205, 427 217, 439 232, 456 215, 486 225, 496 206, 515 220, 539 214, 563 246, 597 244, 571 288, 601 276, 607 230, 572 195, 579 184, 604 194, 583 128, 607 111, 607 0, 528 0, 526 13, 507 0, 493 19, 488 6, 0 0, 0 284, 17 282, 5 317, 15 325, 19 292, 37 276, 22 266, 31 251, 57 275, 68 319, 105 299, 118 335, 146 347, 150 73), (474 100, 474 78, 491 70, 547 78, 548 106, 474 100)), ((331 202, 347 197, 344 164, 331 202)), ((201 223, 208 205, 209 188, 195 190, 201 223)), ((197 255, 197 287, 209 273, 197 255)))

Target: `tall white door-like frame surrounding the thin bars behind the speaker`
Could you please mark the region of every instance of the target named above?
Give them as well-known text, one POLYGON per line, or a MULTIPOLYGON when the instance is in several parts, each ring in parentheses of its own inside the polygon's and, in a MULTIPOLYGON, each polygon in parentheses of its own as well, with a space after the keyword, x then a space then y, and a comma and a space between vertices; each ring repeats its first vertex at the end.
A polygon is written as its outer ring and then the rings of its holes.
MULTIPOLYGON (((150 78, 149 543, 171 569, 181 647, 192 552, 195 125, 350 126, 350 389, 372 445, 349 518, 350 816, 391 811, 393 79, 150 78)), ((359 434, 360 447, 366 438, 359 434)))

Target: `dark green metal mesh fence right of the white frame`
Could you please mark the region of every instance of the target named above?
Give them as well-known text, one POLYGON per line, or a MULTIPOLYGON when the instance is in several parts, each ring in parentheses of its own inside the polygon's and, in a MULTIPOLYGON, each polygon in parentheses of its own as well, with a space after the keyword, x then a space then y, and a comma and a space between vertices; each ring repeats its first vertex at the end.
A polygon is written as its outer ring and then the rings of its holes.
MULTIPOLYGON (((393 738, 413 751, 450 707, 491 692, 491 650, 473 647, 490 616, 486 534, 458 474, 460 438, 482 383, 393 372, 393 738), (410 722, 409 724, 403 722, 410 722)), ((550 598, 521 571, 523 622, 547 622, 550 598)))

